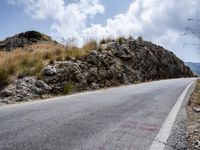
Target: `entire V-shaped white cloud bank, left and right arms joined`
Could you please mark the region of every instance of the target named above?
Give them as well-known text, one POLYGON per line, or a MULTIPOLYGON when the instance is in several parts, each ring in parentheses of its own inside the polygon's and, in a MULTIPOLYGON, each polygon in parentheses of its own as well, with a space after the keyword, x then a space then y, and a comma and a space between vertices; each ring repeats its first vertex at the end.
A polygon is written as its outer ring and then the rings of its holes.
MULTIPOLYGON (((143 36, 164 46, 177 40, 187 26, 187 19, 195 17, 199 0, 134 0, 123 14, 108 18, 104 25, 93 24, 90 18, 103 14, 99 0, 8 0, 22 4, 33 19, 52 19, 52 33, 56 37, 77 38, 82 44, 88 39, 118 36, 143 36)), ((113 0, 114 6, 115 0, 113 0)))

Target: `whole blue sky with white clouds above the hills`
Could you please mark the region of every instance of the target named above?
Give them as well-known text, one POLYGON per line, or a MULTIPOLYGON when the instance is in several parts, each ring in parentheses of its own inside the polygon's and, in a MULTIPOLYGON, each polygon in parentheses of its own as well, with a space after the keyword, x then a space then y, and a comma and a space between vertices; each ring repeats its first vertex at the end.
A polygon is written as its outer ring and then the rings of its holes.
POLYGON ((0 40, 37 30, 77 45, 142 36, 184 61, 200 62, 199 40, 184 34, 200 18, 200 0, 0 0, 0 40))

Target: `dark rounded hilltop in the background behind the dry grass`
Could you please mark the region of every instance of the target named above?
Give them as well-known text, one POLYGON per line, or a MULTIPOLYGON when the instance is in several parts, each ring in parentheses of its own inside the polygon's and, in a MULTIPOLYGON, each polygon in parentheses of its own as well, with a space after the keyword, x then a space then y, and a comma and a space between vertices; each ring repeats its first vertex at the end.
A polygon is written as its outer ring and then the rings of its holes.
POLYGON ((0 51, 12 51, 16 48, 24 48, 25 46, 35 43, 56 43, 51 37, 37 31, 27 31, 16 34, 13 37, 0 41, 0 51))

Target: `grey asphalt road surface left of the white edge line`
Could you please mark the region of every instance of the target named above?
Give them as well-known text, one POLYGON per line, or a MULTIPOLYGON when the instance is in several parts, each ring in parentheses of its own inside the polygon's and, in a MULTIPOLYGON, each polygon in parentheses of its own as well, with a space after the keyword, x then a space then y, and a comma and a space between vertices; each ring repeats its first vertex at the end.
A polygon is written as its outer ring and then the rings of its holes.
POLYGON ((194 80, 163 80, 2 106, 0 150, 148 150, 194 80))

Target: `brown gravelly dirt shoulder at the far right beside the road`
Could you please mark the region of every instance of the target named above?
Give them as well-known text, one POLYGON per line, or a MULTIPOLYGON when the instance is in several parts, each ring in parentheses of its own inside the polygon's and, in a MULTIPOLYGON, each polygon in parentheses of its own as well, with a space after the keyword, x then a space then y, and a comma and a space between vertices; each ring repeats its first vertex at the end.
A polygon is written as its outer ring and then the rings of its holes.
POLYGON ((189 150, 200 150, 200 80, 187 106, 187 142, 189 150))

